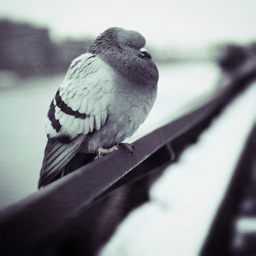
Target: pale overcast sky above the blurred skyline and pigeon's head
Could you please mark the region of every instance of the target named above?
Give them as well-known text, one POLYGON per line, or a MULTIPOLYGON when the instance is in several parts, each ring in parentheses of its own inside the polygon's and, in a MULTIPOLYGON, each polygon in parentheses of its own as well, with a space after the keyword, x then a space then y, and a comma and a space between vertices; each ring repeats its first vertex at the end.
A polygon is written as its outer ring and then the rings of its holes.
POLYGON ((256 0, 2 0, 0 16, 46 25, 53 37, 123 27, 157 46, 256 41, 256 0))

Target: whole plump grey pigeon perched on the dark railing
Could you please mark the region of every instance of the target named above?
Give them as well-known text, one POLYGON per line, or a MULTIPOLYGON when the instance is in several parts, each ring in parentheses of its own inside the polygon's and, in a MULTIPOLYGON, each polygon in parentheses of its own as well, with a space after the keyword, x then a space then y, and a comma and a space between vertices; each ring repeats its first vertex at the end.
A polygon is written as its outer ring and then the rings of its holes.
POLYGON ((108 28, 72 61, 49 106, 39 189, 111 151, 133 153, 122 141, 150 113, 159 77, 145 43, 138 32, 108 28))

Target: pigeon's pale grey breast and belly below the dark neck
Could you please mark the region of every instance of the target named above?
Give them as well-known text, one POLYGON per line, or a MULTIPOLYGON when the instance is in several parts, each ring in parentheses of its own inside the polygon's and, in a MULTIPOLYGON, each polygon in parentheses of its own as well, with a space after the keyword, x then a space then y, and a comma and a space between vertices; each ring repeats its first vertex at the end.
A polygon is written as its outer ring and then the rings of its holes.
POLYGON ((119 79, 109 102, 104 126, 90 134, 82 152, 95 153, 100 147, 113 147, 130 137, 145 121, 155 99, 156 86, 145 88, 119 79))

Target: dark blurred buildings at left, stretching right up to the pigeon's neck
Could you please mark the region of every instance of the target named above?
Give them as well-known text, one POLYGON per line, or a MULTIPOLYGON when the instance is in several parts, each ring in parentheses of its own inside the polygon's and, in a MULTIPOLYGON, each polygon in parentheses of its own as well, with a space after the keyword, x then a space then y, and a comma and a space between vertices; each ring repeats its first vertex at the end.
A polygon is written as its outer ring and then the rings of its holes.
POLYGON ((70 62, 85 53, 92 40, 54 43, 47 28, 0 21, 0 70, 20 75, 66 72, 70 62))

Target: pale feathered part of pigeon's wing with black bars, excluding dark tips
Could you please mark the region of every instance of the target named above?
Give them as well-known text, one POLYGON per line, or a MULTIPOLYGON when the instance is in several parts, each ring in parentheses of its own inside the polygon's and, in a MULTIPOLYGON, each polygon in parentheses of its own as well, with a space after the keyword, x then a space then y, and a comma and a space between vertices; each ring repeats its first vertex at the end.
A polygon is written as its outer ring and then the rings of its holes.
POLYGON ((77 134, 87 135, 88 131, 99 130, 103 126, 104 123, 98 120, 108 109, 114 80, 110 69, 105 62, 90 53, 72 62, 49 108, 51 125, 47 121, 48 139, 59 140, 61 135, 69 135, 69 139, 74 139, 77 134), (85 121, 87 118, 90 122, 85 121), (95 123, 93 126, 92 122, 95 123))

